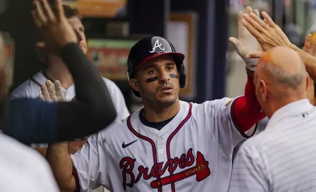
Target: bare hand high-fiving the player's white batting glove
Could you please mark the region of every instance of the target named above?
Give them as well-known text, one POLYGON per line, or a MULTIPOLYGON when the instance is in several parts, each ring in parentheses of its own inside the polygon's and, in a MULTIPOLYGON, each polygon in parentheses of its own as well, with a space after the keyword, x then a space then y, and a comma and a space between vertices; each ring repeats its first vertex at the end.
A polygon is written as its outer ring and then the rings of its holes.
POLYGON ((258 40, 263 51, 267 51, 277 46, 293 48, 289 38, 276 25, 266 12, 262 12, 264 21, 257 15, 250 13, 243 15, 242 24, 249 30, 249 32, 258 40))

